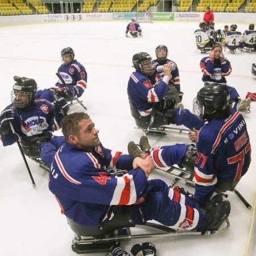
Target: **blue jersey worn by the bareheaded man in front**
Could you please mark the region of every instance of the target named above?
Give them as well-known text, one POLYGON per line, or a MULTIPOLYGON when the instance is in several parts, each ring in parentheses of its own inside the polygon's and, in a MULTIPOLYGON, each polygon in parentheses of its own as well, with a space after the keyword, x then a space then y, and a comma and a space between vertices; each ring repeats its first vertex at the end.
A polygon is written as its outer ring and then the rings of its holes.
POLYGON ((131 205, 147 188, 141 169, 133 168, 134 157, 100 146, 92 152, 65 143, 55 155, 49 172, 49 189, 61 207, 61 213, 78 224, 99 225, 110 205, 131 205), (117 177, 113 168, 127 170, 117 177))

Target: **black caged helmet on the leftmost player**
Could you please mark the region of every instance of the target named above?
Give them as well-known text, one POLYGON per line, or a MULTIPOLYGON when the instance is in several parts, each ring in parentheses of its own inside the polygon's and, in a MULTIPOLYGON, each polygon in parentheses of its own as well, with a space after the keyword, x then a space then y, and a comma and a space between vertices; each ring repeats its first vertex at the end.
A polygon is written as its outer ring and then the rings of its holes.
POLYGON ((16 108, 26 108, 34 102, 38 85, 34 79, 27 77, 14 76, 13 78, 15 84, 11 91, 11 102, 16 108))

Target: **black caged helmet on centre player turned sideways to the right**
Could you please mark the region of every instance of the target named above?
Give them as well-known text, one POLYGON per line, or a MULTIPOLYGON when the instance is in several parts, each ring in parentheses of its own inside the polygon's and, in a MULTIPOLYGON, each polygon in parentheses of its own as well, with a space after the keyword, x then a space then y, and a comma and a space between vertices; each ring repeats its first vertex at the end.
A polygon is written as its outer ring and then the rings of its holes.
POLYGON ((133 67, 144 75, 151 75, 154 69, 151 68, 152 58, 147 52, 140 52, 133 55, 133 67))

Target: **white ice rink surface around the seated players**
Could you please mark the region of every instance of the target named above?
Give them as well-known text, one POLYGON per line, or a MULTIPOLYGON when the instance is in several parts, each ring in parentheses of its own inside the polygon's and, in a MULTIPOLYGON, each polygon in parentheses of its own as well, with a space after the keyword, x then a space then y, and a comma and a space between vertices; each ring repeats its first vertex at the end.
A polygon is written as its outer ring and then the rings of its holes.
MULTIPOLYGON (((128 21, 127 21, 128 22, 128 21)), ((168 59, 174 60, 180 72, 183 104, 192 111, 193 98, 203 87, 200 60, 208 54, 196 52, 193 32, 198 23, 156 22, 141 23, 143 38, 126 38, 127 22, 77 22, 31 24, 0 27, 0 109, 11 103, 10 93, 13 76, 35 79, 39 89, 50 88, 57 82, 57 68, 61 65, 61 49, 72 47, 76 59, 88 73, 88 87, 81 97, 88 114, 100 130, 99 136, 105 147, 127 153, 129 141, 139 142, 143 131, 134 129, 127 99, 127 81, 135 53, 148 52, 155 58, 155 48, 164 44, 169 49, 168 59)), ((224 29, 226 23, 215 23, 216 30, 224 29)), ((231 24, 231 23, 230 23, 231 24)), ((228 24, 228 25, 230 25, 228 24)), ((237 24, 238 31, 247 30, 249 24, 237 24)), ((251 64, 256 53, 228 49, 225 57, 233 71, 226 78, 241 98, 247 92, 256 92, 256 76, 251 75, 251 64)), ((82 111, 77 105, 72 111, 82 111)), ((255 127, 256 103, 251 102, 251 113, 245 120, 250 135, 252 161, 247 174, 237 185, 237 190, 253 205, 255 199, 255 127)), ((56 134, 60 135, 61 131, 56 134)), ((151 146, 189 143, 188 137, 168 134, 165 137, 148 137, 151 146)), ((3 256, 68 256, 73 232, 61 215, 55 197, 48 190, 48 173, 28 159, 36 188, 31 186, 18 146, 0 146, 0 255, 3 256)), ((151 178, 172 179, 158 173, 151 178)), ((178 183, 189 191, 181 181, 178 183)), ((242 256, 246 254, 247 241, 253 210, 249 210, 234 194, 228 192, 232 205, 230 229, 213 236, 178 236, 147 238, 122 242, 123 249, 130 251, 135 243, 152 242, 158 256, 242 256)), ((88 195, 89 196, 89 195, 88 195)), ((95 256, 105 255, 96 253, 95 256)))

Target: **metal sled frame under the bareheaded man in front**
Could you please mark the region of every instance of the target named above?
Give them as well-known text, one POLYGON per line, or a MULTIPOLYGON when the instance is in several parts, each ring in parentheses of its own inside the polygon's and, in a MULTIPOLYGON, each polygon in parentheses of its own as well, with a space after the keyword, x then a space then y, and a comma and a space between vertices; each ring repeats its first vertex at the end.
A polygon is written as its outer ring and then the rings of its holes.
MULTIPOLYGON (((143 225, 137 225, 139 227, 143 227, 143 225)), ((99 253, 104 251, 109 251, 112 245, 119 245, 121 241, 129 241, 134 238, 148 238, 148 237, 167 237, 167 236, 181 236, 181 235, 212 235, 225 232, 229 229, 229 220, 228 218, 222 223, 220 228, 215 231, 184 231, 180 232, 179 230, 175 230, 169 228, 168 226, 164 226, 161 224, 155 224, 152 222, 147 222, 147 227, 151 227, 154 229, 158 229, 162 231, 161 233, 144 233, 144 234, 132 234, 131 228, 135 227, 128 226, 126 228, 113 230, 113 232, 105 234, 105 236, 101 237, 82 237, 75 233, 75 238, 72 240, 72 250, 77 254, 84 253, 99 253)))

